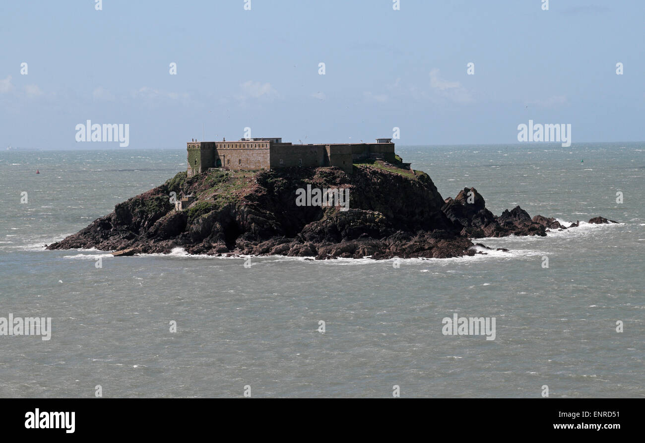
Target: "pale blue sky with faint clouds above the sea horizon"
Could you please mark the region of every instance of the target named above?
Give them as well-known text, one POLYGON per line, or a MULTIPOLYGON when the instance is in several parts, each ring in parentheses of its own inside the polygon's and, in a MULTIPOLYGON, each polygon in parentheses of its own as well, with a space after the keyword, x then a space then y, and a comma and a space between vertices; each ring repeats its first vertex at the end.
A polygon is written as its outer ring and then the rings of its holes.
POLYGON ((571 124, 573 143, 645 140, 642 0, 244 3, 1 1, 0 148, 117 149, 75 142, 88 119, 130 124, 129 148, 183 148, 203 125, 208 140, 396 126, 399 144, 517 143, 529 119, 571 124))

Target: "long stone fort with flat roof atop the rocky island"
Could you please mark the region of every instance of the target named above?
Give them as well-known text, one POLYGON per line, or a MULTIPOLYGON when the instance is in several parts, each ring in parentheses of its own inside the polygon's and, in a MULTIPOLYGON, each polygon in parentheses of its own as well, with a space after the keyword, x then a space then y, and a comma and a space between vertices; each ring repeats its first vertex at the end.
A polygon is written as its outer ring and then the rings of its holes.
POLYGON ((292 144, 281 138, 238 141, 188 142, 188 177, 209 168, 268 170, 293 166, 338 166, 352 173, 352 163, 361 159, 394 162, 392 139, 376 143, 292 144))

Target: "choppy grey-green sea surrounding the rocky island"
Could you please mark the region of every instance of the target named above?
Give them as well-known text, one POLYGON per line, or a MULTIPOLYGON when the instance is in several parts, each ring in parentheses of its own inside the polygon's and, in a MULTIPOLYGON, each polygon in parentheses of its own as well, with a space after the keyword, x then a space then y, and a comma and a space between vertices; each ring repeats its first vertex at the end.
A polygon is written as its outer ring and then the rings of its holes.
POLYGON ((475 186, 496 214, 621 222, 400 268, 45 251, 184 169, 185 151, 1 152, 0 317, 52 317, 52 339, 0 336, 0 397, 645 397, 644 149, 397 148, 444 197, 475 186), (495 340, 442 335, 453 313, 495 317, 495 340))

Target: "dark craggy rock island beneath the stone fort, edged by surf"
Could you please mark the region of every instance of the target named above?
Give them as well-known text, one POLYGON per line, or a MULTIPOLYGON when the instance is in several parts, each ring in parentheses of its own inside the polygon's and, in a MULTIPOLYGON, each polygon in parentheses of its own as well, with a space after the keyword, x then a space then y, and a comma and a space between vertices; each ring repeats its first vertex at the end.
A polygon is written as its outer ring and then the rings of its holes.
POLYGON ((190 179, 179 173, 48 249, 168 253, 181 247, 209 255, 448 258, 481 253, 471 248, 470 238, 564 229, 555 219, 531 219, 519 206, 499 217, 485 206, 475 188, 444 201, 428 175, 373 165, 355 166, 352 175, 339 168, 281 168, 244 176, 212 172, 190 179), (296 190, 307 185, 349 189, 349 209, 298 206, 296 190), (175 211, 171 192, 197 199, 175 211))

